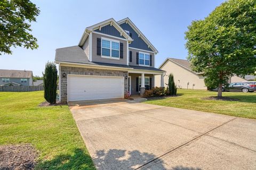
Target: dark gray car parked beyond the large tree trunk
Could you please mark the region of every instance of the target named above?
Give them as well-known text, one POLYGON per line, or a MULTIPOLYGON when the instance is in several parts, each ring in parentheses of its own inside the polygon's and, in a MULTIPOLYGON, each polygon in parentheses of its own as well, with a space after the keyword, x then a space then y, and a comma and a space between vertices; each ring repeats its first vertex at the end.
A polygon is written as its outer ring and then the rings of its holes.
POLYGON ((242 91, 242 92, 254 92, 256 91, 256 84, 247 82, 235 82, 230 83, 226 91, 242 91))

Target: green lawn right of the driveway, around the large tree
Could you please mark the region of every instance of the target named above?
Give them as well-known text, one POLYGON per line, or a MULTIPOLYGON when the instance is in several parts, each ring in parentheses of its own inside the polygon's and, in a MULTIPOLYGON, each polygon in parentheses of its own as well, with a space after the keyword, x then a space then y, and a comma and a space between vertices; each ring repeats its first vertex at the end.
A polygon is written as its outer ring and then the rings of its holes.
POLYGON ((178 89, 177 94, 178 97, 148 100, 145 103, 256 119, 256 92, 222 93, 225 97, 237 98, 239 101, 202 99, 217 96, 215 91, 178 89))

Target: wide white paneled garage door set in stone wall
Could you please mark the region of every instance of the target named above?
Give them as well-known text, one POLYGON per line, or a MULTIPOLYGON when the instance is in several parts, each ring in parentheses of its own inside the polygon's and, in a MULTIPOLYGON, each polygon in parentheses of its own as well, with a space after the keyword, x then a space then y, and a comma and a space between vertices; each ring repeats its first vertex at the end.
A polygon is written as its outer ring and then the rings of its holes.
POLYGON ((123 98, 123 77, 68 75, 68 101, 123 98))

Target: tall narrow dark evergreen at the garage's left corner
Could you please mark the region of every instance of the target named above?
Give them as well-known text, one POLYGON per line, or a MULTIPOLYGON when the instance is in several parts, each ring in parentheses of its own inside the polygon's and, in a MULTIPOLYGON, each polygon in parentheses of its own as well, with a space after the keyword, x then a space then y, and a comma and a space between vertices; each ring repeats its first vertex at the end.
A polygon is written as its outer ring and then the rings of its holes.
POLYGON ((57 68, 53 62, 47 62, 43 73, 44 98, 50 104, 56 103, 57 96, 57 68))

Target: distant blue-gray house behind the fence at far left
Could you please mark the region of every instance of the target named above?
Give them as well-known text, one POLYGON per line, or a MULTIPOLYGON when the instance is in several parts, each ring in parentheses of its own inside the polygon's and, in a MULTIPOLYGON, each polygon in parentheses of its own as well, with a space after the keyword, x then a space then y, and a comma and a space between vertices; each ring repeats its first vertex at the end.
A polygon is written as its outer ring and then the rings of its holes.
POLYGON ((32 86, 33 72, 27 70, 0 70, 0 86, 32 86))

